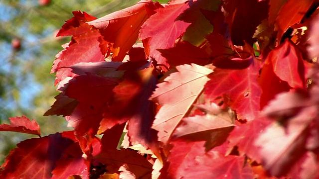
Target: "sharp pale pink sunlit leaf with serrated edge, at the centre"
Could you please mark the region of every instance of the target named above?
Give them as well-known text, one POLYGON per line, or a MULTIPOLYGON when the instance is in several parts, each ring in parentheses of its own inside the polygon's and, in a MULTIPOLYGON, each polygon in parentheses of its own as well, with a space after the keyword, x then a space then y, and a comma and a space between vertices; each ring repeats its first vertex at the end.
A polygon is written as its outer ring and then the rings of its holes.
POLYGON ((176 69, 178 72, 165 78, 150 98, 162 105, 152 128, 159 131, 159 141, 164 144, 202 93, 207 75, 212 72, 195 64, 177 66, 176 69))

